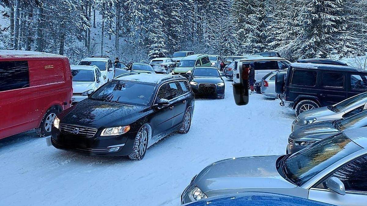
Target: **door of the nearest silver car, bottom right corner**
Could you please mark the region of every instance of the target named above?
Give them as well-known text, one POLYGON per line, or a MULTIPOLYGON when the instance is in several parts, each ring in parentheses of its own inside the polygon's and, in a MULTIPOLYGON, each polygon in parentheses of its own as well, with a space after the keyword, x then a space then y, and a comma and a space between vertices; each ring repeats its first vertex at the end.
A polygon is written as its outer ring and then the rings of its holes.
POLYGON ((367 158, 358 158, 331 175, 342 181, 345 187, 345 195, 340 195, 327 189, 325 182, 323 182, 309 190, 308 199, 333 205, 364 205, 367 201, 366 173, 367 158))

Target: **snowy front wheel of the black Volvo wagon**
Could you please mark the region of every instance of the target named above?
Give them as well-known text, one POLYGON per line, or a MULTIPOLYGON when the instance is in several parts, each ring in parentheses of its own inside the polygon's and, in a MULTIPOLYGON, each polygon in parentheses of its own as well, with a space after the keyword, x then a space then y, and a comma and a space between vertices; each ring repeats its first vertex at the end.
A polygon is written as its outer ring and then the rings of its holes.
POLYGON ((143 125, 137 136, 135 137, 134 145, 128 157, 132 160, 141 160, 144 158, 146 150, 148 149, 149 129, 143 125))

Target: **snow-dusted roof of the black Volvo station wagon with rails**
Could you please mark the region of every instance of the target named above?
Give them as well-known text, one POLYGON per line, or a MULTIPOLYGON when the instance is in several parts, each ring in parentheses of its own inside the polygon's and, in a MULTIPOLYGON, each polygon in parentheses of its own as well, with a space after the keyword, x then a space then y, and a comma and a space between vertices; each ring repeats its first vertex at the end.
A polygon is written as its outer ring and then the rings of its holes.
POLYGON ((132 72, 125 75, 120 75, 115 80, 125 80, 134 82, 143 82, 148 84, 159 84, 162 81, 168 80, 187 80, 181 75, 170 75, 170 74, 155 74, 149 72, 132 72))

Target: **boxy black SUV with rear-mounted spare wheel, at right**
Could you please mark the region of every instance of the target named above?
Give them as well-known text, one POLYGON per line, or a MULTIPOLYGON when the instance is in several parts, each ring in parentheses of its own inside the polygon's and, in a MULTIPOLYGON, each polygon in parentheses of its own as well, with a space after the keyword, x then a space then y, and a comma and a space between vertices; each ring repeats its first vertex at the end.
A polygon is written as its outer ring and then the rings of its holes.
POLYGON ((348 66, 291 63, 275 81, 280 105, 295 109, 297 116, 367 91, 367 71, 348 66))

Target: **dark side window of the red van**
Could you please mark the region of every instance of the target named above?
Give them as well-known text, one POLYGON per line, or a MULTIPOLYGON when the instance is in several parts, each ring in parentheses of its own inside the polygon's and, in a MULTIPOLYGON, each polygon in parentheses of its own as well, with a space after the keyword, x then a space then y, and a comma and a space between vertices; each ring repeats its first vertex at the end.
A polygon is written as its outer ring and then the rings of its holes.
POLYGON ((0 62, 0 92, 29 87, 27 61, 0 62))

